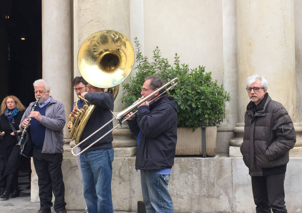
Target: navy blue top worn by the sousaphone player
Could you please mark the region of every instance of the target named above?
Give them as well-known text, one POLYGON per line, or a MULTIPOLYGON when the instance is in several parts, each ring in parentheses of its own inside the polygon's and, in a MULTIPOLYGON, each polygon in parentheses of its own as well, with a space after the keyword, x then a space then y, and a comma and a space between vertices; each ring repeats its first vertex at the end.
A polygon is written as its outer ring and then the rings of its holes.
MULTIPOLYGON (((113 95, 110 92, 89 92, 85 94, 85 99, 96 105, 93 113, 91 114, 80 138, 80 141, 88 137, 91 133, 95 132, 97 129, 102 127, 108 121, 112 119, 113 111, 113 95)), ((102 128, 99 132, 89 138, 87 141, 80 145, 81 150, 85 149, 92 142, 98 140, 107 131, 112 129, 112 122, 108 124, 105 128, 102 128)), ((109 133, 103 137, 99 142, 94 144, 85 152, 100 150, 100 149, 110 149, 112 148, 112 134, 109 133)))

